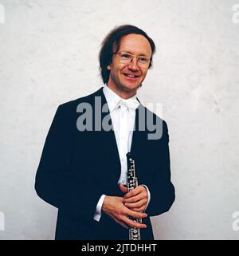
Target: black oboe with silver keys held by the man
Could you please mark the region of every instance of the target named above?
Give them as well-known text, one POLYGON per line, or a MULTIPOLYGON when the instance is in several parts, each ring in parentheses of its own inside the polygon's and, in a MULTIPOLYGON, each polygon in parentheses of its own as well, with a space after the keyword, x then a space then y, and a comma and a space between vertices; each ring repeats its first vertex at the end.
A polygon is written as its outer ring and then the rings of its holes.
MULTIPOLYGON (((135 160, 131 156, 131 153, 127 153, 127 191, 131 191, 138 186, 138 179, 135 175, 135 160)), ((129 219, 132 219, 135 223, 142 223, 142 218, 134 218, 128 216, 129 219)), ((140 238, 140 228, 131 227, 129 229, 129 240, 141 240, 140 238)))

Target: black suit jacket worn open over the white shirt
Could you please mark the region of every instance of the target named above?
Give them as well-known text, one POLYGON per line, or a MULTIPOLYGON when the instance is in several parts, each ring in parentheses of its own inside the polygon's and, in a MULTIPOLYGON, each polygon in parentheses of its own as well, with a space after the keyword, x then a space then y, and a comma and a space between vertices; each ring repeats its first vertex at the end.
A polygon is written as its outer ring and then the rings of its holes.
MULTIPOLYGON (((101 105, 106 104, 103 88, 61 104, 45 140, 35 189, 41 199, 58 208, 56 239, 128 239, 128 230, 108 215, 102 214, 100 222, 93 219, 102 194, 123 196, 117 185, 120 160, 114 131, 80 132, 76 128, 76 120, 83 114, 76 112, 78 104, 88 103, 95 109, 96 96, 100 97, 101 105)), ((139 109, 151 113, 142 104, 136 109, 131 153, 135 157, 139 184, 147 185, 151 192, 146 210, 148 217, 143 219, 147 229, 141 229, 141 237, 153 239, 149 216, 168 211, 174 202, 169 139, 167 124, 163 121, 161 139, 148 140, 150 132, 140 131, 137 125, 139 109)), ((92 113, 93 120, 96 112, 92 113)), ((101 120, 108 113, 103 113, 101 120)), ((159 120, 158 116, 153 116, 159 120)), ((92 127, 94 124, 93 121, 92 127)))

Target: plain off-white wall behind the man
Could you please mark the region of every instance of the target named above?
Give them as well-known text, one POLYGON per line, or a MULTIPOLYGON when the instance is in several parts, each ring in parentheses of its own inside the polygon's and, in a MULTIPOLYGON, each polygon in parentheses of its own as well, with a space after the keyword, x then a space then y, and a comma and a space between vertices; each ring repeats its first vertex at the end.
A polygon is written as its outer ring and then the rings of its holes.
POLYGON ((0 238, 53 238, 57 209, 33 189, 45 136, 59 104, 100 88, 100 43, 114 26, 129 23, 157 45, 139 99, 163 103, 170 132, 176 200, 170 212, 152 218, 155 238, 238 239, 232 228, 239 211, 235 4, 0 0, 0 238))

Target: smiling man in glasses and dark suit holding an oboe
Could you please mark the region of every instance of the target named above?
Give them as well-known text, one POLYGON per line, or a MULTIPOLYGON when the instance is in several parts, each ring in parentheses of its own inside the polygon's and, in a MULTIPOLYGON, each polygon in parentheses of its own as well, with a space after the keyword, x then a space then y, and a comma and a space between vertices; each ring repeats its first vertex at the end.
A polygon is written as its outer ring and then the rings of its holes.
POLYGON ((35 183, 37 195, 58 208, 57 239, 128 239, 132 226, 141 239, 153 239, 149 217, 174 202, 167 124, 136 98, 154 52, 143 30, 117 27, 100 50, 104 87, 57 108, 35 183), (150 115, 162 133, 154 140, 147 125, 142 129, 150 115), (139 180, 131 191, 127 152, 139 180))

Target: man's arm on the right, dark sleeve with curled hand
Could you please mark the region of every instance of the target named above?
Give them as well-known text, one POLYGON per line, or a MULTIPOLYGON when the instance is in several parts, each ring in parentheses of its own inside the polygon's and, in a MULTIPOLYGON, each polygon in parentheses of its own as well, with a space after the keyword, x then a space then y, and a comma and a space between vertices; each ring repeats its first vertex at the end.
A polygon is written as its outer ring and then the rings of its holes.
MULTIPOLYGON (((123 203, 133 211, 146 211, 149 216, 168 211, 174 202, 174 186, 170 182, 170 155, 167 124, 163 121, 163 137, 160 141, 159 167, 148 181, 148 187, 139 185, 124 195, 123 203), (149 190, 151 191, 149 193, 149 190)), ((123 191, 123 187, 122 187, 123 191)))

